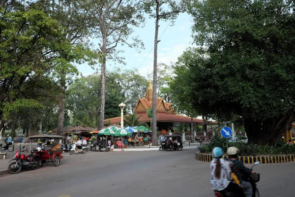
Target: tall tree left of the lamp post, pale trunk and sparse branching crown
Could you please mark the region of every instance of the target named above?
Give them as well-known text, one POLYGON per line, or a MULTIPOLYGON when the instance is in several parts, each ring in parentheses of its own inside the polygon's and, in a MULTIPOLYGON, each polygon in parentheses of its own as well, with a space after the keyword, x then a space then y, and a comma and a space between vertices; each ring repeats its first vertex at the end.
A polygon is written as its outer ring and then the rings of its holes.
POLYGON ((132 27, 143 25, 144 17, 136 0, 77 0, 94 17, 99 27, 96 29, 96 38, 99 39, 100 53, 103 56, 101 63, 101 97, 99 106, 99 126, 102 129, 105 115, 106 90, 106 62, 113 59, 122 62, 123 58, 116 51, 118 44, 129 47, 143 47, 138 37, 129 35, 133 33, 132 27), (116 53, 115 53, 116 51, 116 53))

